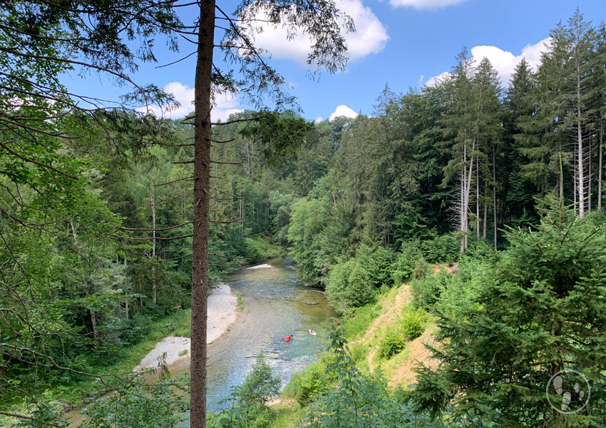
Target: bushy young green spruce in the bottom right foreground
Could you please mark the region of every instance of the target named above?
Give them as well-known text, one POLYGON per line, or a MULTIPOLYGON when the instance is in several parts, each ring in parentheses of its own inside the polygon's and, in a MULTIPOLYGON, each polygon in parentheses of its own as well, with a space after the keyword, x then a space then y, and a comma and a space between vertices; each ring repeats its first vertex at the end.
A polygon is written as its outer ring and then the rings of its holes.
MULTIPOLYGON (((580 220, 560 201, 535 230, 509 229, 506 237, 511 246, 494 272, 484 272, 477 297, 455 312, 438 313, 446 340, 433 357, 441 365, 419 370, 418 407, 436 417, 447 407, 462 416, 496 416, 504 427, 602 424, 604 218, 580 220), (550 378, 571 370, 589 381, 591 397, 582 411, 562 414, 550 406, 546 389, 550 378)), ((585 384, 580 389, 587 397, 585 384)), ((561 395, 550 390, 552 402, 562 404, 561 395)))

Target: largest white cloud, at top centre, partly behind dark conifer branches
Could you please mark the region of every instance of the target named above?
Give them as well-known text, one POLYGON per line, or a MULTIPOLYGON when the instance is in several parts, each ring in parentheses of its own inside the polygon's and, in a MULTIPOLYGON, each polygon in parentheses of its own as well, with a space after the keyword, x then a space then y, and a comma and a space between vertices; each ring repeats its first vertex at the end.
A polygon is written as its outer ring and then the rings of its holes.
MULTIPOLYGON (((356 31, 354 33, 342 33, 346 40, 347 54, 350 59, 362 58, 370 54, 376 54, 383 50, 389 36, 381 21, 373 14, 369 7, 364 6, 361 0, 336 0, 337 9, 349 15, 354 20, 356 31)), ((257 19, 267 19, 265 12, 260 12, 257 19)), ((274 26, 269 23, 257 24, 262 32, 247 31, 255 46, 265 49, 274 58, 287 58, 296 61, 304 67, 307 65, 307 55, 312 44, 308 34, 303 34, 299 29, 291 40, 288 40, 288 31, 281 25, 274 26)), ((341 29, 343 26, 341 26, 341 29)))

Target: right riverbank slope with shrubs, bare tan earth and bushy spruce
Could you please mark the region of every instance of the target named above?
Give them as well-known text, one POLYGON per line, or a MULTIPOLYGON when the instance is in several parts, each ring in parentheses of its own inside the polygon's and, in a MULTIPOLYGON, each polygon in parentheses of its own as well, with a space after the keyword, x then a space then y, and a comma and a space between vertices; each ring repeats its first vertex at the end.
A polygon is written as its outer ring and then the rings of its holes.
POLYGON ((606 254, 605 226, 602 213, 580 220, 551 205, 533 230, 505 231, 506 250, 478 248, 456 271, 436 266, 380 293, 292 377, 283 399, 301 416, 285 426, 601 426, 606 275, 595 260, 606 254), (346 328, 360 324, 346 348, 346 328), (554 366, 587 379, 576 387, 595 394, 584 411, 550 407, 554 366))

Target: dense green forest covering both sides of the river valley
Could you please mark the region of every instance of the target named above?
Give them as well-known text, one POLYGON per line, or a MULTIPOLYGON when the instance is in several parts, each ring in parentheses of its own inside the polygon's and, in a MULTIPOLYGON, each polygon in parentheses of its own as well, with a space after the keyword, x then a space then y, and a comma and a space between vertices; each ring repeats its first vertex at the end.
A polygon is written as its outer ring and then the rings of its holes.
MULTIPOLYGON (((520 62, 505 86, 463 49, 433 86, 386 86, 369 116, 247 111, 212 127, 211 283, 289 253, 347 320, 411 281, 445 344, 440 368, 394 392, 334 330, 328 386, 315 385, 299 426, 606 423, 606 26, 577 11, 550 36, 538 68, 520 62), (455 263, 456 277, 426 276, 455 263), (595 385, 570 416, 540 401, 565 367, 595 385)), ((46 66, 31 67, 18 100, 0 95, 0 413, 26 427, 61 426, 63 395, 111 389, 106 374, 178 328, 192 293, 191 121, 65 114, 51 99, 41 116, 31 81, 53 87, 61 71, 46 66)), ((271 423, 246 390, 241 407, 271 423)), ((166 391, 154 394, 173 405, 166 391)))

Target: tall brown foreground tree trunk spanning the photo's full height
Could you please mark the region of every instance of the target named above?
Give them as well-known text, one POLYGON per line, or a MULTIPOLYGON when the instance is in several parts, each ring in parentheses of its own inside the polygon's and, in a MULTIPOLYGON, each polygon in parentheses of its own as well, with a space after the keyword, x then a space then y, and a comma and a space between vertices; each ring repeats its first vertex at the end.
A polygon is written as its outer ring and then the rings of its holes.
POLYGON ((210 203, 210 88, 215 35, 215 0, 202 0, 195 67, 194 216, 192 244, 192 331, 190 427, 206 427, 206 327, 210 203))

